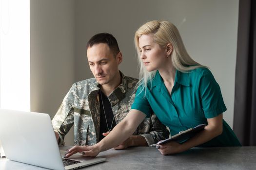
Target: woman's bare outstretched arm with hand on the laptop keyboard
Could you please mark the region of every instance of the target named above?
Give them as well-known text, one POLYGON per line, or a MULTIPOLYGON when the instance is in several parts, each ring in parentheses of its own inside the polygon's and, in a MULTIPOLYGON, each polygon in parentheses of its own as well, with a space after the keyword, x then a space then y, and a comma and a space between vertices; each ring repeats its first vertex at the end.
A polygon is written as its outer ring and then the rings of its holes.
POLYGON ((122 143, 131 136, 138 125, 145 119, 146 115, 136 109, 131 109, 127 116, 118 123, 109 135, 93 146, 74 146, 69 149, 65 158, 74 153, 82 153, 84 156, 97 156, 98 153, 106 151, 122 143))

